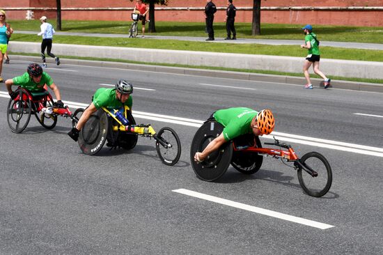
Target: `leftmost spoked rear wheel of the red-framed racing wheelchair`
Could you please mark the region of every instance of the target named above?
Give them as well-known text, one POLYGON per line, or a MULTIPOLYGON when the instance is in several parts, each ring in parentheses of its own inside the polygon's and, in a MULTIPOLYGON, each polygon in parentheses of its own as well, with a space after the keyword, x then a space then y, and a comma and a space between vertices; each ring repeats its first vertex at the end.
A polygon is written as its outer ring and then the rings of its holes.
POLYGON ((15 92, 19 95, 8 102, 7 121, 12 132, 21 133, 31 119, 32 105, 29 94, 24 89, 17 89, 15 92))

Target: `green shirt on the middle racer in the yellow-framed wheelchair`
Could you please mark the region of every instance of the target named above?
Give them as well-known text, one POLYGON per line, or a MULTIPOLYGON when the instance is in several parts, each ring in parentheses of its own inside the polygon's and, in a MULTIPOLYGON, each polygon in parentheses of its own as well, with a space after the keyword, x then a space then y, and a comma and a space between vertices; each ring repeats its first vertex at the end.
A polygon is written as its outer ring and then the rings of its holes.
POLYGON ((93 105, 96 109, 105 107, 107 109, 120 109, 123 105, 126 105, 132 109, 133 98, 132 95, 123 104, 116 98, 116 88, 99 88, 93 95, 93 105))

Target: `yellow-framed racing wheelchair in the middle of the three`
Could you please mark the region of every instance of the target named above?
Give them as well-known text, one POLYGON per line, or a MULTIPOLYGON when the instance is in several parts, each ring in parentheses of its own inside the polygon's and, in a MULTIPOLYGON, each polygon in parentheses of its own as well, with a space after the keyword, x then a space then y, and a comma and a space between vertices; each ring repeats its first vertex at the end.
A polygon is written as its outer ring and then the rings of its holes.
MULTIPOLYGON (((130 150, 136 146, 137 137, 141 136, 155 140, 157 154, 164 164, 172 166, 178 162, 181 155, 181 143, 178 134, 171 127, 162 127, 159 132, 155 132, 150 124, 136 125, 129 107, 125 106, 121 110, 128 121, 127 125, 118 119, 116 113, 105 107, 91 115, 79 132, 78 143, 83 153, 94 155, 101 150, 107 139, 115 141, 114 147, 130 150)), ((114 109, 114 111, 118 110, 114 109)), ((73 114, 74 126, 83 112, 84 109, 79 108, 73 114)))

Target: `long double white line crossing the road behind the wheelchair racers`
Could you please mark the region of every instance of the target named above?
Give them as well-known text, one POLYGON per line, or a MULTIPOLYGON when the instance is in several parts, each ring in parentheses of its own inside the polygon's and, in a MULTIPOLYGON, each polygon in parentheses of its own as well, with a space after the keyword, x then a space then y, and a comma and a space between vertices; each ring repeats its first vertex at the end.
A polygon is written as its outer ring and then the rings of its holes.
MULTIPOLYGON (((7 92, 0 91, 0 97, 9 98, 7 92)), ((86 108, 89 104, 80 102, 63 101, 66 105, 73 108, 86 108)), ((201 127, 204 121, 194 120, 192 118, 180 118, 175 116, 167 116, 163 114, 152 114, 144 111, 133 111, 134 118, 143 118, 152 121, 160 121, 164 123, 173 123, 178 125, 186 125, 189 127, 201 127)), ((309 146, 316 146, 320 148, 330 148, 334 150, 341 150, 351 153, 358 153, 363 155, 371 155, 375 157, 383 157, 383 148, 377 148, 372 146, 364 146, 359 144, 349 144, 342 141, 331 141, 326 139, 320 139, 315 137, 304 137, 296 134, 286 134, 283 132, 272 132, 272 134, 264 135, 263 138, 281 139, 281 141, 293 142, 296 144, 305 144, 309 146)))

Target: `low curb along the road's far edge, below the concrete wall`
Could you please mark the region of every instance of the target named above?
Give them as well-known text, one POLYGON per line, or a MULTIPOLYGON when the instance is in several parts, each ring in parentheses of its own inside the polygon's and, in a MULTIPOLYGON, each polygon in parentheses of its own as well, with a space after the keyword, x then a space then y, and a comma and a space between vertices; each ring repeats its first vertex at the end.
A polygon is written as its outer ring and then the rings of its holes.
MULTIPOLYGON (((12 55, 11 59, 21 60, 21 61, 33 61, 37 63, 40 63, 41 61, 41 58, 38 56, 12 55)), ((51 59, 48 59, 48 61, 49 60, 51 59)), ((170 66, 164 66, 164 65, 144 65, 144 64, 120 63, 120 62, 112 62, 112 61, 90 61, 90 60, 63 59, 63 58, 61 58, 60 60, 61 60, 61 63, 70 64, 70 65, 88 65, 88 66, 96 66, 96 67, 121 68, 121 69, 127 69, 127 70, 166 72, 166 73, 179 74, 179 75, 196 75, 196 76, 217 77, 217 78, 225 78, 225 79, 243 79, 243 80, 257 81, 257 82, 276 82, 281 84, 300 84, 302 86, 306 83, 306 79, 304 79, 304 77, 294 77, 294 76, 284 76, 284 75, 265 75, 265 74, 249 73, 249 72, 205 70, 205 69, 197 69, 197 68, 178 68, 178 67, 170 67, 170 66)), ((314 87, 323 87, 322 79, 312 78, 311 80, 314 87)), ((373 84, 373 83, 366 83, 366 82, 349 82, 349 81, 343 81, 343 80, 336 80, 336 81, 331 81, 331 87, 350 89, 354 91, 370 91, 370 92, 383 93, 383 84, 373 84)))

